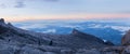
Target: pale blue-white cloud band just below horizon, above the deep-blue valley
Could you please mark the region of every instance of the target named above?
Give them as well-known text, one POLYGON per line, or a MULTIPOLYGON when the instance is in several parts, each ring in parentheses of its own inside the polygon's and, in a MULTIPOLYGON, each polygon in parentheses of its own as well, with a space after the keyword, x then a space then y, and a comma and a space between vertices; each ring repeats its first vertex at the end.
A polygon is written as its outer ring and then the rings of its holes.
MULTIPOLYGON (((110 22, 110 21, 109 21, 110 22)), ((128 24, 121 24, 120 23, 109 23, 109 22, 69 22, 69 23, 65 23, 61 21, 56 21, 56 22, 47 22, 47 21, 42 21, 39 23, 21 23, 21 24, 15 24, 15 26, 23 28, 23 29, 28 29, 28 30, 34 30, 34 31, 40 31, 40 32, 61 32, 61 30, 63 31, 68 31, 67 29, 79 29, 79 30, 86 30, 86 29, 113 29, 113 30, 117 30, 119 32, 125 33, 126 31, 128 31, 130 29, 130 27, 128 26, 128 24), (65 30, 64 30, 65 29, 65 30)), ((107 31, 107 30, 106 30, 107 31)), ((121 35, 122 35, 121 33, 121 35)))

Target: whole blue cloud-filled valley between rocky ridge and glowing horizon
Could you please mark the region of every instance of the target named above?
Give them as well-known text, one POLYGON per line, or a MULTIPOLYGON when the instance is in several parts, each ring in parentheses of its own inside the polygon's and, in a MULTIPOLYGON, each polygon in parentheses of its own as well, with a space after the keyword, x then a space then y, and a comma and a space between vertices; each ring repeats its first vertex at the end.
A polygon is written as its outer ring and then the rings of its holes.
POLYGON ((130 29, 127 24, 119 22, 94 22, 94 21, 38 21, 13 23, 16 27, 44 33, 70 33, 74 28, 94 35, 104 40, 109 40, 115 43, 119 43, 121 37, 126 31, 130 29), (116 40, 114 39, 116 38, 116 40))

